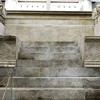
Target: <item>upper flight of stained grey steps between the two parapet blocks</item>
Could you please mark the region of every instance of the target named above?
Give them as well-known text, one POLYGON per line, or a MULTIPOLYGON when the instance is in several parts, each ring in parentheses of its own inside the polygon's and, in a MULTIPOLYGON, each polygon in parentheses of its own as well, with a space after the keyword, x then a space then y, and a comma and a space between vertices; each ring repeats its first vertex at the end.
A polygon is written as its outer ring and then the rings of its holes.
POLYGON ((81 67, 81 54, 73 42, 22 42, 17 66, 81 67), (23 60, 25 59, 25 60, 23 60))

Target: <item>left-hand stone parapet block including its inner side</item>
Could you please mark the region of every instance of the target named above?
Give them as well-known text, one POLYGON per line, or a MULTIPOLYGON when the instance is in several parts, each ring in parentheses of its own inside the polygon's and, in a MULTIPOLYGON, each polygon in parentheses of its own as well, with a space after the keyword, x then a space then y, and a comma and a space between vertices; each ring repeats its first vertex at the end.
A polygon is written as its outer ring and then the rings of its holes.
POLYGON ((0 67, 15 67, 17 59, 17 38, 0 36, 0 67))

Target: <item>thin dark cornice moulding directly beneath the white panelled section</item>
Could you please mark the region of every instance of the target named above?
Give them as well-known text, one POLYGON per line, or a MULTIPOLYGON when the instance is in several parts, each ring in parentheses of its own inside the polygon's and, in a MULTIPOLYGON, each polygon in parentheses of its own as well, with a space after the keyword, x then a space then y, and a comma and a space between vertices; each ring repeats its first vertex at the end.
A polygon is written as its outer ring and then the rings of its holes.
POLYGON ((7 14, 30 14, 30 15, 92 15, 91 11, 11 11, 8 10, 7 14))

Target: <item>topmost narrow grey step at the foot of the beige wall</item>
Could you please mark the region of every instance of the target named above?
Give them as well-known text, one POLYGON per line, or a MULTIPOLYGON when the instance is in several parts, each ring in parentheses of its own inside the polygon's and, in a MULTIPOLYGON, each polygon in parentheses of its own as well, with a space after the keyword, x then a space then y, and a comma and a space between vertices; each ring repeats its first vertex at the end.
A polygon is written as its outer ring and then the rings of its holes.
POLYGON ((26 42, 22 41, 21 42, 21 47, 50 47, 50 46, 78 46, 77 43, 74 42, 26 42))

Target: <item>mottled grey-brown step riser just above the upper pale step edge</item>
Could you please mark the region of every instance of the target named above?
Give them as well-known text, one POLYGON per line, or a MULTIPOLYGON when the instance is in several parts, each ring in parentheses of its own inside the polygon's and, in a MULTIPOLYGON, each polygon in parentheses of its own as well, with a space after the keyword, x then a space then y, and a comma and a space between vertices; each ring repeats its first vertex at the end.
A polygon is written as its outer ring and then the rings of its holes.
POLYGON ((16 67, 15 77, 100 77, 100 68, 16 67))

